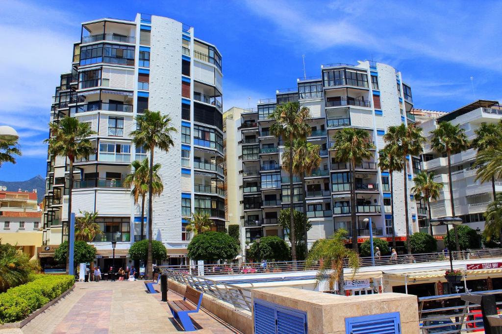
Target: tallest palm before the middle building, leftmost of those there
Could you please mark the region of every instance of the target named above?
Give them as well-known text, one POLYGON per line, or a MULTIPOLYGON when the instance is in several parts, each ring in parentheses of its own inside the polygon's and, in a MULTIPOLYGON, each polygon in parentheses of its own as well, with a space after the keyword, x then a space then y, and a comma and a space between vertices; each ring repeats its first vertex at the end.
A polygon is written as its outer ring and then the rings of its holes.
MULTIPOLYGON (((312 133, 312 129, 306 123, 306 121, 311 118, 310 110, 307 107, 300 107, 298 102, 287 102, 278 105, 269 118, 276 121, 270 127, 270 132, 278 138, 281 137, 286 143, 289 143, 290 146, 292 146, 295 138, 306 137, 312 133)), ((293 161, 293 150, 289 150, 288 153, 289 161, 293 161)), ((284 153, 282 156, 284 159, 284 153)), ((290 164, 288 167, 287 172, 289 173, 290 208, 292 209, 290 216, 291 257, 293 261, 296 261, 293 164, 290 164)), ((283 168, 285 168, 284 165, 283 168)))

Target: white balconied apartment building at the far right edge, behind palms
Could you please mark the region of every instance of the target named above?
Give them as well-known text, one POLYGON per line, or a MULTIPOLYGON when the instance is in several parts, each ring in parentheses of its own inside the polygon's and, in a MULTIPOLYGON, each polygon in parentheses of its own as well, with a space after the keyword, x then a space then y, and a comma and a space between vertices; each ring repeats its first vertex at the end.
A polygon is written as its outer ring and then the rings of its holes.
MULTIPOLYGON (((424 136, 428 139, 424 147, 423 169, 436 174, 435 181, 443 183, 444 187, 437 201, 431 202, 432 218, 451 216, 450 190, 448 182, 448 160, 446 155, 433 152, 430 147, 431 131, 436 129, 441 122, 449 121, 454 125, 459 124, 465 130, 467 138, 475 138, 474 130, 482 123, 497 123, 502 119, 502 110, 497 101, 479 100, 444 114, 436 119, 421 124, 424 136)), ((462 218, 464 224, 476 229, 484 229, 483 213, 486 206, 493 200, 492 183, 480 183, 476 178, 475 162, 476 149, 469 148, 465 151, 453 154, 452 181, 455 215, 462 218)), ((502 191, 501 180, 495 180, 495 191, 502 191)), ((425 207, 424 204, 422 204, 425 207)), ((420 220, 420 227, 426 228, 425 219, 420 220)), ((434 226, 434 234, 444 234, 444 226, 434 226)))

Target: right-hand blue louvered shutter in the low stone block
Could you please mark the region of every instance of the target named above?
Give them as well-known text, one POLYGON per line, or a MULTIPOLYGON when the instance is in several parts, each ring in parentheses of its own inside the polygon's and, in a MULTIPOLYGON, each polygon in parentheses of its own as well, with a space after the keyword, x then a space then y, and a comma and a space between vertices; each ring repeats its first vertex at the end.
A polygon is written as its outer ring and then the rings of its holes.
POLYGON ((355 316, 345 319, 347 334, 401 334, 399 312, 355 316))

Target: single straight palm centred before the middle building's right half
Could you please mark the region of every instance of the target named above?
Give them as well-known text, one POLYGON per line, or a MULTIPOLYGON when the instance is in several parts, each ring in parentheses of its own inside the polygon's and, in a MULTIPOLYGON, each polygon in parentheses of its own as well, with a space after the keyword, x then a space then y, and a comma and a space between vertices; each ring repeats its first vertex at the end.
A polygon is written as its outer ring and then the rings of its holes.
MULTIPOLYGON (((357 252, 357 215, 356 215, 356 185, 355 164, 361 163, 362 159, 373 156, 370 151, 375 146, 369 138, 369 133, 362 129, 344 128, 333 136, 334 145, 332 150, 337 161, 348 161, 350 164, 350 215, 352 217, 352 250, 357 252)), ((371 226, 369 227, 371 228, 371 226)))

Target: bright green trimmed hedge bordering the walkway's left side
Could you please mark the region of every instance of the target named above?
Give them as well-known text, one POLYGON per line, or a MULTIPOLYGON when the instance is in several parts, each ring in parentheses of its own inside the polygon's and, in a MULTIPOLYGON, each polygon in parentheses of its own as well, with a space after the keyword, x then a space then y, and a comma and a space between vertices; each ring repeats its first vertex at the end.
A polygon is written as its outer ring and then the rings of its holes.
POLYGON ((61 295, 75 283, 71 275, 34 275, 34 280, 0 293, 0 323, 16 322, 61 295))

